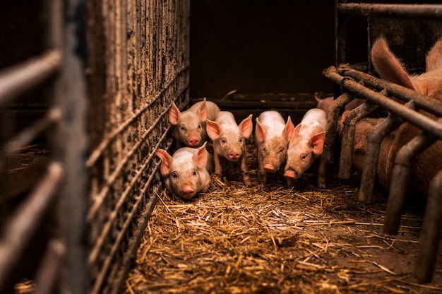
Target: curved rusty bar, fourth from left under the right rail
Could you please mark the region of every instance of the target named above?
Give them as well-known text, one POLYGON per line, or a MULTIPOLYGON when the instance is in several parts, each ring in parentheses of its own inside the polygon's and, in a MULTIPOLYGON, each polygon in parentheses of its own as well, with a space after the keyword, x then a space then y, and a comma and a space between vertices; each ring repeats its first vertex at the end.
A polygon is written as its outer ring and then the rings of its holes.
MULTIPOLYGON (((442 119, 439 119, 442 123, 442 119)), ((437 136, 422 133, 400 148, 395 157, 395 165, 391 175, 390 193, 386 208, 386 218, 383 223, 383 232, 397 234, 400 213, 407 194, 407 184, 412 174, 414 158, 438 140, 437 136)))

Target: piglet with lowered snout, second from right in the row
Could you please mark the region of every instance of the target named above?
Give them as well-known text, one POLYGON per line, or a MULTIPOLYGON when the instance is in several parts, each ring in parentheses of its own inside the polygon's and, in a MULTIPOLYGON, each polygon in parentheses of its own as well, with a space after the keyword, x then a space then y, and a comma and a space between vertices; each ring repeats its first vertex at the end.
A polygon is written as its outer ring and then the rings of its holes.
POLYGON ((294 126, 290 117, 285 123, 279 112, 269 110, 256 118, 255 143, 258 149, 258 180, 261 187, 267 182, 267 172, 277 172, 285 165, 287 146, 294 126))

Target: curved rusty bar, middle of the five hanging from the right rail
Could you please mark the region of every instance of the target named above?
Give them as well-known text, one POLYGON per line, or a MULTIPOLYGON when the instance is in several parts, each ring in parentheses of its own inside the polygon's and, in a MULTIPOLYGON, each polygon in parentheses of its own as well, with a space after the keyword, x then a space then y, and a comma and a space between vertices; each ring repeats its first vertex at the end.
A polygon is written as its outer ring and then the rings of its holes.
POLYGON ((376 181, 376 170, 378 168, 379 151, 382 140, 402 124, 403 119, 395 115, 389 115, 383 122, 378 124, 367 138, 367 146, 364 158, 364 169, 362 170, 361 187, 359 189, 358 201, 370 203, 376 181))

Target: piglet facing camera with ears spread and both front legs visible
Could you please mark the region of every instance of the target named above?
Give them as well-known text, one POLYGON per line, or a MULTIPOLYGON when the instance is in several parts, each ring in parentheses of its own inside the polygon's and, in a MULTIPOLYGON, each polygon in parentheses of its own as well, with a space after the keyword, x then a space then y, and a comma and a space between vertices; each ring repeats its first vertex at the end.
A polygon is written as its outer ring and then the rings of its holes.
POLYGON ((239 125, 232 112, 221 111, 215 117, 215 121, 206 119, 207 134, 213 140, 213 152, 215 158, 215 174, 222 176, 222 170, 230 162, 241 164, 242 180, 244 184, 251 184, 247 167, 246 139, 251 136, 253 123, 252 114, 244 119, 239 125))

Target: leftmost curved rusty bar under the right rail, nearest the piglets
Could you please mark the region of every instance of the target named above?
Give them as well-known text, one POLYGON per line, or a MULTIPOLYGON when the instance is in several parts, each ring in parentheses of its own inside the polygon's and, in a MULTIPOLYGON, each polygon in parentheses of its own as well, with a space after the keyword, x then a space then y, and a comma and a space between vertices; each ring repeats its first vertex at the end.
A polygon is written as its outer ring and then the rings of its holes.
POLYGON ((327 125, 325 126, 325 139, 322 158, 330 161, 333 160, 333 154, 335 153, 336 136, 338 135, 338 117, 341 110, 347 105, 353 98, 350 93, 346 92, 340 95, 338 98, 328 107, 327 125))

